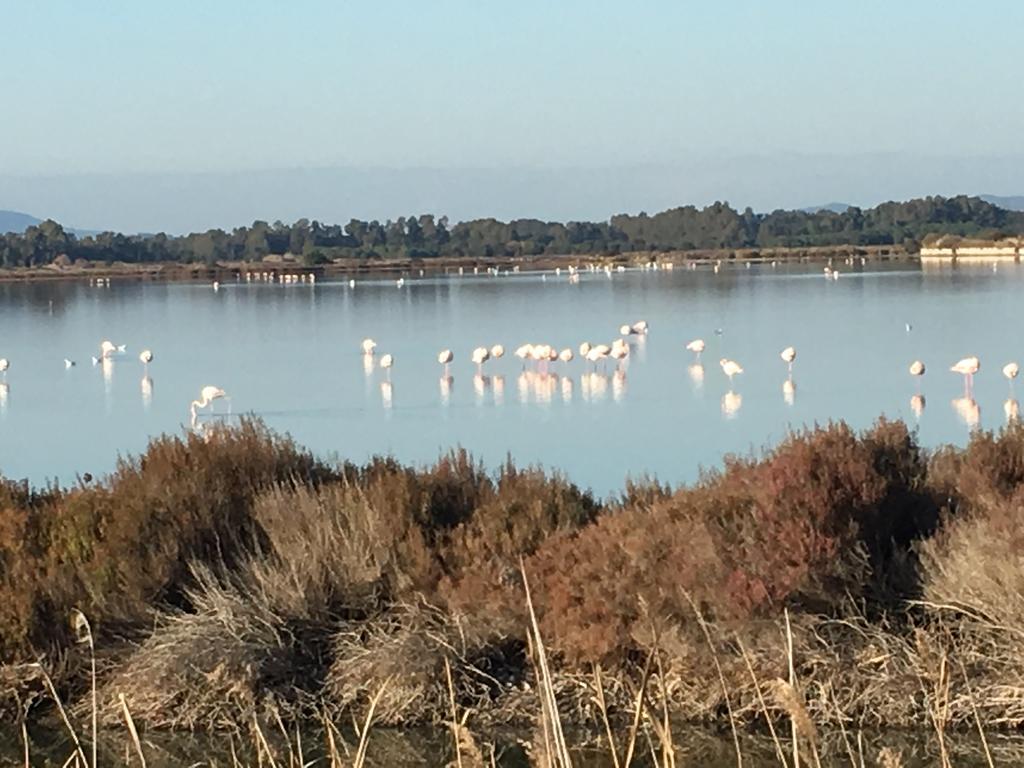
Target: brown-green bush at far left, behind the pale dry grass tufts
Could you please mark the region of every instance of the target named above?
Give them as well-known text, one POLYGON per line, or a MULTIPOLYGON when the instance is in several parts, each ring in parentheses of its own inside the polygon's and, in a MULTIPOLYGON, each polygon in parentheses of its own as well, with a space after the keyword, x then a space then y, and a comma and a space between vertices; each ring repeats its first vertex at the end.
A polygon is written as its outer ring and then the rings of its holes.
POLYGON ((333 472, 245 421, 209 439, 160 437, 101 482, 0 494, 0 658, 67 645, 72 608, 130 631, 181 604, 191 560, 230 562, 257 535, 261 488, 333 472))

